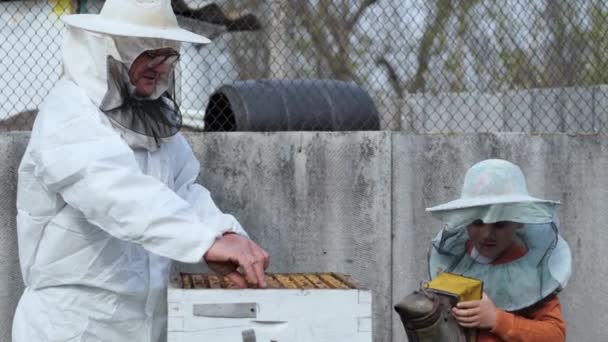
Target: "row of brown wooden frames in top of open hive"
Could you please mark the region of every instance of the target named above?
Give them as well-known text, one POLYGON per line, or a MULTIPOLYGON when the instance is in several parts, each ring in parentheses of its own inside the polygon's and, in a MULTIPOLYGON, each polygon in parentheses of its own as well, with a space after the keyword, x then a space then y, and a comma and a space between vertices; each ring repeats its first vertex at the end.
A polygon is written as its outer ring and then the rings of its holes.
MULTIPOLYGON (((267 273, 269 289, 360 289, 348 275, 339 273, 267 273)), ((182 289, 237 289, 227 277, 208 273, 180 273, 182 289)))

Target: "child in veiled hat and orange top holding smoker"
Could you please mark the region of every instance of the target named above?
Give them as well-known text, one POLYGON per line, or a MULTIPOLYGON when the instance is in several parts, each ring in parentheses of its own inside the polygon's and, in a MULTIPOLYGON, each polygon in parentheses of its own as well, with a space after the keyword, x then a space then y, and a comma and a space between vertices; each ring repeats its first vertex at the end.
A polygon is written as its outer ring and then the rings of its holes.
POLYGON ((484 282, 481 300, 452 309, 478 342, 565 341, 557 293, 571 254, 553 222, 558 204, 531 197, 517 165, 489 159, 468 170, 459 199, 427 209, 445 223, 432 241, 430 277, 445 271, 484 282))

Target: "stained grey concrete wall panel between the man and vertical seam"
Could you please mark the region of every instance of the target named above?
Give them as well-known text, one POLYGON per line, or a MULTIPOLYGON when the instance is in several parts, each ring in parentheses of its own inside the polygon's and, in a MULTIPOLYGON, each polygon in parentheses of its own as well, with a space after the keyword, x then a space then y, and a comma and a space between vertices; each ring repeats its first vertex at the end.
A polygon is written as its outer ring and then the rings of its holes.
POLYGON ((390 133, 190 140, 201 183, 270 252, 270 271, 352 275, 373 291, 374 341, 390 341, 390 133))

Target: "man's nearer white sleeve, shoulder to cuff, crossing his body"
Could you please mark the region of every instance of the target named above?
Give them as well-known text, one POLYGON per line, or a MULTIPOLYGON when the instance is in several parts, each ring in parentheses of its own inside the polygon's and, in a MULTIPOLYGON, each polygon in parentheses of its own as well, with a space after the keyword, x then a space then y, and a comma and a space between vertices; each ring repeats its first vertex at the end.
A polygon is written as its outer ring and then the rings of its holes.
POLYGON ((188 202, 143 174, 97 109, 77 100, 41 106, 29 150, 36 178, 112 236, 174 260, 199 262, 221 229, 201 222, 188 202))

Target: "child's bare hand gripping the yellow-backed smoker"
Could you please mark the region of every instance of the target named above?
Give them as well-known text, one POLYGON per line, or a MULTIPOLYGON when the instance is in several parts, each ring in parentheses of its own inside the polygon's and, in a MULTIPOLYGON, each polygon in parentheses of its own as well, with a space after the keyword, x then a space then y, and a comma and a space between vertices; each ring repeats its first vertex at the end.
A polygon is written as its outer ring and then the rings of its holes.
POLYGON ((496 305, 485 292, 481 300, 458 303, 452 313, 465 328, 492 329, 496 324, 496 305))

